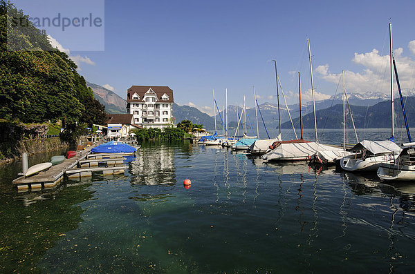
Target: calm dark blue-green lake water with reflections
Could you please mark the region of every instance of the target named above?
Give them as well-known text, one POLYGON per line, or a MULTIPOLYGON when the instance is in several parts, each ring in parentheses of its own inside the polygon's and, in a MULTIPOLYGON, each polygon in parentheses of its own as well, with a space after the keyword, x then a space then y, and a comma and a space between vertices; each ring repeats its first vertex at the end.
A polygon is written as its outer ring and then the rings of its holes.
MULTIPOLYGON (((342 141, 341 130, 324 135, 342 141)), ((12 187, 21 163, 1 167, 0 273, 415 271, 415 182, 188 142, 142 144, 127 162, 124 175, 37 193, 12 187)))

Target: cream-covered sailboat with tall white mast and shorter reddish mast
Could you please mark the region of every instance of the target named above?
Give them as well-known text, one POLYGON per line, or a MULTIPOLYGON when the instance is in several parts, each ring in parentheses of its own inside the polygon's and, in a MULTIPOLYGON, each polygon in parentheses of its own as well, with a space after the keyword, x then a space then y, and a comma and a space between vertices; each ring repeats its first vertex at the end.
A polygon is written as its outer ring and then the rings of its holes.
MULTIPOLYGON (((315 141, 306 141, 302 136, 302 112, 301 112, 301 85, 299 84, 299 97, 300 97, 300 128, 301 128, 301 138, 290 140, 290 141, 276 141, 271 148, 270 152, 262 156, 262 159, 269 161, 299 161, 310 159, 311 155, 315 154, 317 151, 333 151, 333 150, 342 150, 341 148, 335 148, 333 146, 327 146, 319 144, 317 142, 317 121, 315 118, 315 100, 314 100, 314 88, 313 88, 313 66, 311 64, 311 50, 310 50, 310 41, 307 39, 308 43, 308 55, 310 60, 310 74, 311 74, 311 94, 313 97, 313 110, 314 110, 314 126, 315 126, 315 141)), ((298 74, 299 75, 299 74, 298 74)), ((300 79, 298 77, 300 83, 300 79)))

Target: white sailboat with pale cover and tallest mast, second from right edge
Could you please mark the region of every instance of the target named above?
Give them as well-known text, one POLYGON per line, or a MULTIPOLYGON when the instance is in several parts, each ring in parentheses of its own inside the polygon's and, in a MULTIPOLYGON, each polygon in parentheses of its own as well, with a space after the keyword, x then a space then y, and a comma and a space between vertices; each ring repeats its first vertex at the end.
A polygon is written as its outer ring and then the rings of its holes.
POLYGON ((394 136, 394 88, 392 73, 392 25, 389 23, 389 46, 390 46, 390 75, 391 75, 391 137, 387 141, 364 140, 351 148, 353 155, 340 159, 340 166, 347 171, 375 171, 380 164, 393 164, 394 158, 400 153, 394 136))

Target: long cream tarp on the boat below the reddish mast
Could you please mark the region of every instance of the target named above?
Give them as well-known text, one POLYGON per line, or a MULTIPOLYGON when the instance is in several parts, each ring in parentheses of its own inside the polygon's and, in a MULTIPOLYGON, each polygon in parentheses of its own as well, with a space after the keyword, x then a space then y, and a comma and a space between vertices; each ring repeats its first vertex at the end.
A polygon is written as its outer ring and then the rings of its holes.
POLYGON ((262 158, 265 160, 300 160, 307 159, 314 155, 317 151, 322 150, 342 150, 333 146, 326 146, 318 144, 315 141, 304 141, 295 143, 280 143, 277 148, 274 148, 269 153, 266 153, 262 158))

